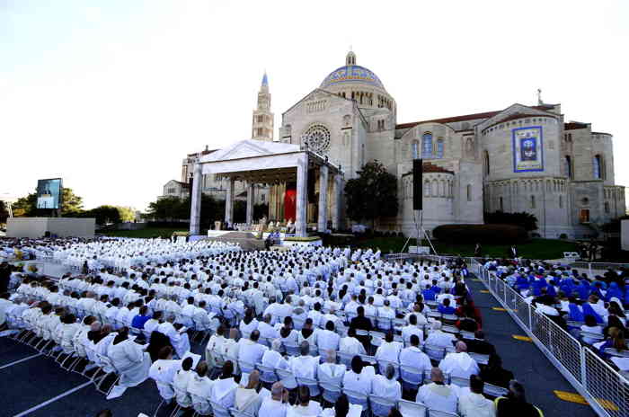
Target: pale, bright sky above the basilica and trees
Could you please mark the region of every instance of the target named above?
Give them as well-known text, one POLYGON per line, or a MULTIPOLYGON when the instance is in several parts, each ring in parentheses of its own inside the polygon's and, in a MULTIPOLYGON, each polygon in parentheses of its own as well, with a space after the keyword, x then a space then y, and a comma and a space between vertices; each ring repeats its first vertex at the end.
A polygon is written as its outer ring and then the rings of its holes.
POLYGON ((0 199, 60 176, 86 208, 144 209, 186 154, 251 137, 265 68, 277 128, 350 46, 398 123, 540 87, 614 134, 629 185, 628 22, 627 1, 0 0, 0 199))

